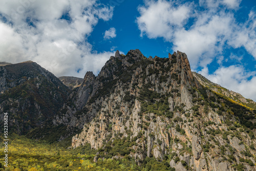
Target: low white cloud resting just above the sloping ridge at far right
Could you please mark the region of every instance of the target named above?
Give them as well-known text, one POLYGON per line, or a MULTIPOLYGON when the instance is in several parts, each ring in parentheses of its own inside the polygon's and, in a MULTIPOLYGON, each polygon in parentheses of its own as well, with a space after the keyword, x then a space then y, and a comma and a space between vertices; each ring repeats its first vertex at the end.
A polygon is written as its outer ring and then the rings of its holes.
POLYGON ((220 84, 222 87, 238 92, 245 98, 256 101, 256 72, 248 72, 242 66, 220 67, 213 74, 208 73, 208 69, 204 68, 198 72, 211 80, 220 84), (248 78, 250 78, 248 80, 248 78))

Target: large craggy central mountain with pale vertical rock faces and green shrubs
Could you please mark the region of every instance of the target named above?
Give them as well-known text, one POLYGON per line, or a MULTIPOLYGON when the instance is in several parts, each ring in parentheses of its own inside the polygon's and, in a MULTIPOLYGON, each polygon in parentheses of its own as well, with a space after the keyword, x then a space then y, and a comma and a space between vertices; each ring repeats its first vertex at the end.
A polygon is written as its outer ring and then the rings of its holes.
POLYGON ((90 143, 95 161, 130 155, 176 170, 255 169, 255 111, 200 83, 185 53, 117 52, 97 77, 86 74, 54 123, 81 127, 72 147, 90 143))

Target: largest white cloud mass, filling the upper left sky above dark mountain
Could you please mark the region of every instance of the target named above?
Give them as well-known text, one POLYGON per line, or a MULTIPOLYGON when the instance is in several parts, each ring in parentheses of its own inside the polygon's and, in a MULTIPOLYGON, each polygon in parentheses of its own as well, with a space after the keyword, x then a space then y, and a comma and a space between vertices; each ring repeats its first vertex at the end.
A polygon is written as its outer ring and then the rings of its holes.
POLYGON ((98 20, 113 15, 98 1, 10 0, 0 14, 6 18, 0 20, 0 61, 33 60, 57 76, 83 77, 86 71, 97 74, 114 54, 92 52, 87 41, 98 20))

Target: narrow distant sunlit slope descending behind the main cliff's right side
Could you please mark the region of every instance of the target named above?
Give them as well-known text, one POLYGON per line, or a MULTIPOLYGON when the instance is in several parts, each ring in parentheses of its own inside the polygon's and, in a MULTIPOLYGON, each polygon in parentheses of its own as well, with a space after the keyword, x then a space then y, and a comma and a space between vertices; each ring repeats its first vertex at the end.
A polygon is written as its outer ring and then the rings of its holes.
POLYGON ((207 87, 208 89, 219 93, 231 100, 233 100, 234 102, 237 102, 241 105, 247 106, 250 109, 256 110, 256 102, 254 102, 251 99, 247 99, 244 98, 241 94, 227 90, 226 88, 221 87, 219 84, 211 82, 210 80, 208 80, 207 78, 205 78, 204 76, 202 76, 201 74, 198 74, 196 72, 193 72, 194 77, 197 78, 197 80, 205 87, 207 87))

